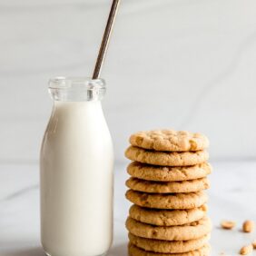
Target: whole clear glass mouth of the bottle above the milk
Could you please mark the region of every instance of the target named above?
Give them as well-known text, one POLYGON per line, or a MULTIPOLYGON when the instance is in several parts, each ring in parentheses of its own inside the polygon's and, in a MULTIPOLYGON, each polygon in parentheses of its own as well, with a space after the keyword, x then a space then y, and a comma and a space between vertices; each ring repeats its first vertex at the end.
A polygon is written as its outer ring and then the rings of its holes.
POLYGON ((101 78, 59 76, 49 80, 49 93, 54 101, 98 101, 103 99, 105 92, 105 82, 101 78))

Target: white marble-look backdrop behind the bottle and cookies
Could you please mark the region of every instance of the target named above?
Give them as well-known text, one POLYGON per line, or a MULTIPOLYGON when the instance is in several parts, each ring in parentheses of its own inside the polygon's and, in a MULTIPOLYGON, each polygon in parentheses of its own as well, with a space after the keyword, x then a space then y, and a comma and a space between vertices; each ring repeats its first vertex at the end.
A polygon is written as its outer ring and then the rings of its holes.
MULTIPOLYGON (((47 81, 92 74, 110 3, 0 0, 1 162, 38 161, 47 81)), ((255 158, 255 0, 123 0, 102 76, 117 162, 130 133, 169 127, 255 158)))

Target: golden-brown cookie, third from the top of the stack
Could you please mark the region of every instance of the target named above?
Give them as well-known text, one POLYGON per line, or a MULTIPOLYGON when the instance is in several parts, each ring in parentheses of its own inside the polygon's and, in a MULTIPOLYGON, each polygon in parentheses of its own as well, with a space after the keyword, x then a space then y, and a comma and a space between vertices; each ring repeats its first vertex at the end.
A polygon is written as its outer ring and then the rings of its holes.
POLYGON ((155 182, 179 182, 206 177, 212 172, 212 166, 203 162, 193 166, 155 166, 142 162, 131 162, 127 172, 135 177, 146 181, 155 182))

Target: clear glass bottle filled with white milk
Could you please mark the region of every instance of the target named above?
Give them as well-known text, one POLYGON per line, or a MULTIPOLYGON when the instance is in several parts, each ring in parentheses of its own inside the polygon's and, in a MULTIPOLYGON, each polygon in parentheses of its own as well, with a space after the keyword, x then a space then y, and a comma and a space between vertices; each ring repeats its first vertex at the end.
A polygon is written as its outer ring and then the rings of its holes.
POLYGON ((41 239, 46 255, 104 255, 113 240, 113 143, 102 79, 55 78, 41 148, 41 239))

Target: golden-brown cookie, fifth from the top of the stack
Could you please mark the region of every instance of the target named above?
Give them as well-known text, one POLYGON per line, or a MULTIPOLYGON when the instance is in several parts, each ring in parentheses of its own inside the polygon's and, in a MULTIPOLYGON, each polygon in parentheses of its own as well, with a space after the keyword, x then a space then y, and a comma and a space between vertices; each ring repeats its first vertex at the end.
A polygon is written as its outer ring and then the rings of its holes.
POLYGON ((125 196, 130 202, 142 207, 172 210, 200 207, 208 200, 205 192, 160 194, 129 190, 125 196))

